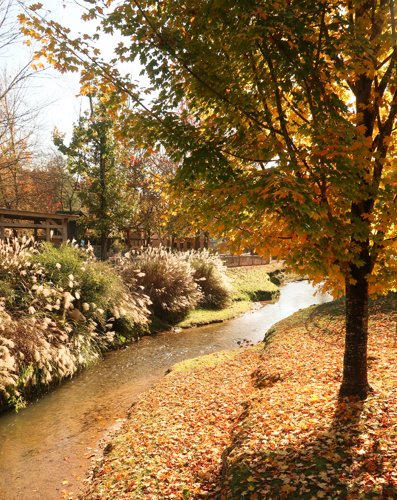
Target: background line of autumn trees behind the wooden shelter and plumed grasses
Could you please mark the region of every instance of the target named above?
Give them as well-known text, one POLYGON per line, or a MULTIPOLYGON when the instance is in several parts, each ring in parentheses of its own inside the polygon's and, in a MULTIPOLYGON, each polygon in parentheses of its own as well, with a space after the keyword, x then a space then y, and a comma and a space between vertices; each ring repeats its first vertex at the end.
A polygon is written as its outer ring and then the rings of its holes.
MULTIPOLYGON (((0 2, 0 50, 20 42, 13 0, 0 2)), ((85 240, 101 245, 106 258, 110 241, 123 229, 141 236, 145 246, 151 234, 163 245, 186 234, 187 219, 165 213, 165 183, 176 164, 164 149, 137 145, 115 137, 116 118, 102 104, 95 82, 83 98, 88 111, 80 113, 67 143, 53 130, 53 146, 43 148, 42 103, 32 105, 42 65, 30 59, 24 66, 3 65, 0 75, 0 207, 55 212, 81 210, 85 240)))

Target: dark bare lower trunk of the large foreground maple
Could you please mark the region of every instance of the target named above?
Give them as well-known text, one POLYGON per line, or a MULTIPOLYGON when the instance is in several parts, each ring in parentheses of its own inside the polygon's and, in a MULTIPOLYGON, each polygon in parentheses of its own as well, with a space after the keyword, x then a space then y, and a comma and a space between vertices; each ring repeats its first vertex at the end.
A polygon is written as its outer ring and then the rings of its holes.
POLYGON ((367 379, 366 349, 368 339, 368 281, 366 265, 350 267, 346 277, 346 338, 343 357, 343 379, 339 397, 356 396, 365 399, 371 391, 367 379))

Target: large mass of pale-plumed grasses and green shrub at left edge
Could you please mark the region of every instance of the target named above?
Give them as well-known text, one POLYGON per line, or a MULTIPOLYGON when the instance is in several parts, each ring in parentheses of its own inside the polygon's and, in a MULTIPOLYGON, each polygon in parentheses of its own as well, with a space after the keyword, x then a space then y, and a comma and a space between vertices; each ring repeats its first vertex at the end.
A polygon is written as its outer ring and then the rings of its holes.
POLYGON ((143 325, 149 314, 139 288, 67 244, 0 241, 0 291, 0 404, 16 408, 94 363, 113 342, 113 318, 143 325))

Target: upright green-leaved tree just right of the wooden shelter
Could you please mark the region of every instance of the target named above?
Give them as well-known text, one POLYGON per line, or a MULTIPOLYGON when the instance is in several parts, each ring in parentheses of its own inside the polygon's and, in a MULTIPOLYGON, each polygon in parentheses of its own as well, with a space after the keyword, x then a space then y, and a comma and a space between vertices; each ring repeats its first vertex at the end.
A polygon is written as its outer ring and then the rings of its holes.
POLYGON ((55 130, 54 144, 67 156, 71 174, 83 179, 78 195, 88 209, 82 224, 101 241, 101 258, 107 258, 109 234, 129 226, 136 211, 135 192, 131 190, 130 151, 114 138, 114 123, 100 103, 92 103, 91 114, 80 116, 69 145, 55 130))

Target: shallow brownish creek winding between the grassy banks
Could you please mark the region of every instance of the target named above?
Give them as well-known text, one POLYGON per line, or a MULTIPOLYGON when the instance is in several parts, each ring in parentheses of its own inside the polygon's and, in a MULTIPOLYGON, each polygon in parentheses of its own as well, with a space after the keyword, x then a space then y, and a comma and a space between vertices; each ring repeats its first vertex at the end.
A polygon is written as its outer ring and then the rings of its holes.
POLYGON ((279 299, 231 321, 143 337, 108 352, 96 366, 36 397, 18 413, 1 414, 0 500, 55 500, 64 489, 76 495, 90 465, 84 453, 101 456, 98 442, 106 430, 172 364, 236 348, 243 339, 258 342, 276 321, 331 300, 319 293, 313 297, 307 281, 280 289, 279 299), (62 485, 64 479, 67 485, 62 485))

